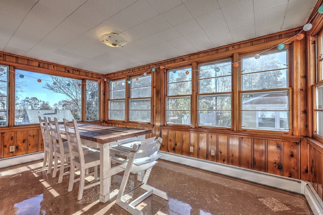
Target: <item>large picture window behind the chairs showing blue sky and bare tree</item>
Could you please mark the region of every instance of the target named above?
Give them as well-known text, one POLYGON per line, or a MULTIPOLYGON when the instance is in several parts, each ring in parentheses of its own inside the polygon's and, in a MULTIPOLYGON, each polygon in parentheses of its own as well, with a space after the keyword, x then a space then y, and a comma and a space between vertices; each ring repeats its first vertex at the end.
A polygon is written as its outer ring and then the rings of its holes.
POLYGON ((15 70, 15 124, 39 123, 38 116, 81 120, 81 80, 15 70))

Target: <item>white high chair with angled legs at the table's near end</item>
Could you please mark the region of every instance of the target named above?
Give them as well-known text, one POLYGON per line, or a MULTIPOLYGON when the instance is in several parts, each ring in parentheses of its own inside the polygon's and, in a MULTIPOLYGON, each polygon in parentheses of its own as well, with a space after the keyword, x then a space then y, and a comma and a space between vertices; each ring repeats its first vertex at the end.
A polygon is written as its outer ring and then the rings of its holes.
MULTIPOLYGON (((163 139, 158 137, 158 139, 154 141, 144 141, 144 144, 127 142, 126 144, 115 145, 110 148, 112 151, 117 152, 116 155, 120 153, 126 153, 128 155, 128 159, 125 160, 124 164, 118 166, 124 169, 124 175, 117 195, 116 203, 133 215, 143 214, 141 210, 136 208, 136 205, 138 205, 151 194, 157 195, 161 198, 168 200, 168 195, 166 192, 161 191, 150 185, 147 185, 151 169, 154 165, 157 164, 156 160, 160 157, 160 155, 158 154, 158 150, 162 141, 163 139), (133 188, 132 190, 141 188, 143 190, 146 190, 146 192, 140 195, 138 198, 134 199, 132 202, 128 202, 122 197, 125 195, 124 192, 130 173, 136 174, 141 171, 145 171, 143 181, 139 186, 133 188)), ((119 160, 119 162, 121 162, 121 160, 119 160)))

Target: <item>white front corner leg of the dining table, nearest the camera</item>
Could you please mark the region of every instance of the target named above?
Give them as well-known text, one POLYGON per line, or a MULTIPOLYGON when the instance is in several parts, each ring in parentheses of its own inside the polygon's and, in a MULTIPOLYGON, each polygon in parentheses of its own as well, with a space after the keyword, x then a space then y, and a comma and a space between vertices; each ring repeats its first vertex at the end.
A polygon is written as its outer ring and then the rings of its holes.
POLYGON ((110 199, 110 168, 111 164, 109 144, 100 144, 100 202, 103 203, 110 199))

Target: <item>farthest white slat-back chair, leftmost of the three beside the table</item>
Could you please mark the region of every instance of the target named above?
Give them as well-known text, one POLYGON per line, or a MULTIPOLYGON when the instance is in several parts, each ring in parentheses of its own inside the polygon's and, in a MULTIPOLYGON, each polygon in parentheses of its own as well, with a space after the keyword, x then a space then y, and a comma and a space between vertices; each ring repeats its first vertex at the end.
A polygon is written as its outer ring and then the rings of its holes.
POLYGON ((52 139, 50 135, 49 125, 47 122, 47 118, 44 117, 43 119, 38 116, 40 130, 42 134, 42 139, 44 143, 44 160, 42 164, 42 169, 46 169, 48 163, 47 174, 50 174, 53 162, 53 146, 52 146, 52 139))

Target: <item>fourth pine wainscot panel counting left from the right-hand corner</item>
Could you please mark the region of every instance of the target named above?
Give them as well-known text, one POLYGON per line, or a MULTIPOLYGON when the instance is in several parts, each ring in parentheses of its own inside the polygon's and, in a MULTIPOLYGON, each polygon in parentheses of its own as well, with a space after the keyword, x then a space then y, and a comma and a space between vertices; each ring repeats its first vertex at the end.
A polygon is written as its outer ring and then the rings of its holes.
POLYGON ((241 167, 253 169, 253 139, 241 137, 241 167))

